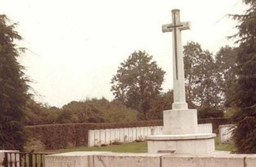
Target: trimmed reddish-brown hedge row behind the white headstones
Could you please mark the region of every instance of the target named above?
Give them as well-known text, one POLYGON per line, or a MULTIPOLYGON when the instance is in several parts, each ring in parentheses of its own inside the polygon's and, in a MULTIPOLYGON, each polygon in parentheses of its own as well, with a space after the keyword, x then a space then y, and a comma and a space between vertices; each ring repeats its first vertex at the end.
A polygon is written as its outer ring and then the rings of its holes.
MULTIPOLYGON (((199 124, 212 123, 213 131, 218 131, 220 124, 226 124, 227 119, 200 119, 199 124)), ((88 131, 93 129, 113 129, 125 127, 163 126, 163 120, 148 120, 125 123, 82 123, 82 124, 48 124, 26 126, 29 139, 40 140, 45 149, 66 149, 82 147, 88 143, 88 131)))

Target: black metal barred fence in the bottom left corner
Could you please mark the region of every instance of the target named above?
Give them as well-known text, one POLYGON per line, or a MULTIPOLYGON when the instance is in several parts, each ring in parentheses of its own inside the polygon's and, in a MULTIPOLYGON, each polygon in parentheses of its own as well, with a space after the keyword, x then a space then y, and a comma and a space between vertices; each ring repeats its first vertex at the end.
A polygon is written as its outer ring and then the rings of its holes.
POLYGON ((45 156, 54 153, 4 152, 4 167, 45 167, 45 156))

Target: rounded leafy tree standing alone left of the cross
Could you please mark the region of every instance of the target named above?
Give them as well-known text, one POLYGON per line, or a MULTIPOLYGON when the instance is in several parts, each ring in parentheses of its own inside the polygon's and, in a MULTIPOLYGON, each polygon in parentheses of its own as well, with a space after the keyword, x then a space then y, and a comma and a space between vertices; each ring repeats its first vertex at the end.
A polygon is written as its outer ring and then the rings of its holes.
POLYGON ((133 52, 113 76, 111 91, 118 101, 137 110, 139 119, 147 120, 150 102, 159 95, 164 74, 151 55, 133 52))

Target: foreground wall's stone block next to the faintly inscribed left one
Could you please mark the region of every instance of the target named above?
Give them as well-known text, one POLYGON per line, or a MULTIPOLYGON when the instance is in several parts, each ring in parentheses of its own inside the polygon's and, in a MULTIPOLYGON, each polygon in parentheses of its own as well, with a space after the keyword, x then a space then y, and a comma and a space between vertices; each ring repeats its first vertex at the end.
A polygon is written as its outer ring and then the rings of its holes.
POLYGON ((167 154, 110 153, 93 156, 93 167, 153 167, 160 166, 161 157, 167 154))

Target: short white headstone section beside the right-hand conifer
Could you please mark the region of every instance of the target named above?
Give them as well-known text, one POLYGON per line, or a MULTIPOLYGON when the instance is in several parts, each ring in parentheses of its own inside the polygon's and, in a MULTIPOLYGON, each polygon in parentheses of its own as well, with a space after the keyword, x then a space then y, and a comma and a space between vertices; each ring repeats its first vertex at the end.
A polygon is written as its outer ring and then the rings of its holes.
POLYGON ((219 138, 221 144, 231 144, 233 124, 220 125, 219 126, 219 138))

